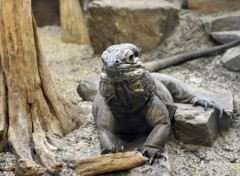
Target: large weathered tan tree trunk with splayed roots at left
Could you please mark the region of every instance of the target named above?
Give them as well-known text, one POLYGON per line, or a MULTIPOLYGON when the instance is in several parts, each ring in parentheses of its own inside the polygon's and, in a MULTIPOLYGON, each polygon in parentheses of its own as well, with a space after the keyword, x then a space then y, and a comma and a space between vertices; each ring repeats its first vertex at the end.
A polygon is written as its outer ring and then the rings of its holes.
POLYGON ((56 91, 39 44, 31 0, 0 0, 0 149, 17 155, 16 175, 56 173, 61 137, 82 124, 56 91), (43 166, 34 162, 32 151, 43 166))

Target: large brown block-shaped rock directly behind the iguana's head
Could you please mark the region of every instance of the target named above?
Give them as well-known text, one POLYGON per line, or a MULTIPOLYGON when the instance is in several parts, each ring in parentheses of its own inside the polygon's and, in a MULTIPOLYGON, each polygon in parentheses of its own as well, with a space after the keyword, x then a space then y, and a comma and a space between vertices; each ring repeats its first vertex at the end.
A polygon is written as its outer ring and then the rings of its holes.
POLYGON ((179 9, 165 0, 101 0, 89 4, 89 32, 95 53, 118 43, 142 51, 158 46, 179 23, 179 9))

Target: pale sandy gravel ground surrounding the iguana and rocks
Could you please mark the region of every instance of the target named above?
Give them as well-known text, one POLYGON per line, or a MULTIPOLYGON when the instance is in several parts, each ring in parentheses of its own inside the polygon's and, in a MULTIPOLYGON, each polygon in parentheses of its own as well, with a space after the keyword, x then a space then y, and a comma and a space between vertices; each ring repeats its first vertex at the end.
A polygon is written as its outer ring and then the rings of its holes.
MULTIPOLYGON (((175 34, 155 51, 143 54, 143 60, 152 60, 213 45, 204 33, 199 18, 185 13, 181 18, 180 26, 182 27, 178 28, 175 34)), ((84 106, 86 112, 90 112, 91 102, 83 102, 76 92, 76 87, 81 79, 99 75, 100 58, 93 57, 92 48, 89 46, 61 42, 60 27, 39 28, 39 34, 46 60, 59 91, 74 104, 84 106)), ((220 58, 221 55, 205 57, 161 71, 190 85, 209 90, 229 90, 234 94, 234 118, 231 128, 219 134, 212 147, 185 145, 176 140, 168 142, 172 175, 240 175, 240 73, 227 70, 220 58)), ((92 114, 83 115, 86 124, 68 134, 64 138, 68 143, 66 150, 56 154, 63 165, 60 176, 76 175, 76 172, 68 167, 69 163, 66 161, 68 158, 83 159, 100 154, 92 114)), ((14 154, 7 152, 0 153, 0 156, 0 168, 13 167, 14 154)), ((0 170, 1 175, 14 174, 13 172, 1 173, 0 170)))

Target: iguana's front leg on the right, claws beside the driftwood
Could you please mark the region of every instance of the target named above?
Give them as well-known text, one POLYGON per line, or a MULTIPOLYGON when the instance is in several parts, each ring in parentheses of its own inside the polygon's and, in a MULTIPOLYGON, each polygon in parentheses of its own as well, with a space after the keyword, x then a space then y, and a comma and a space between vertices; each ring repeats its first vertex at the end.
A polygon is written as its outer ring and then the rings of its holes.
POLYGON ((146 118, 153 130, 143 144, 142 152, 150 158, 152 164, 157 157, 163 157, 165 145, 170 133, 170 119, 166 105, 157 97, 147 104, 146 118))

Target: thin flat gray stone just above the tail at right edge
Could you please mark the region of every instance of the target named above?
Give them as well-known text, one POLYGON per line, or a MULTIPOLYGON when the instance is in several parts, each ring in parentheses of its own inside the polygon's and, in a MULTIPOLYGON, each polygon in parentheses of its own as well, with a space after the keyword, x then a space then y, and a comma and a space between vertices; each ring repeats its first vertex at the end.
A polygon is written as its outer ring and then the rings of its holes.
POLYGON ((229 43, 236 39, 240 39, 240 30, 239 31, 212 32, 212 37, 219 43, 229 43))

